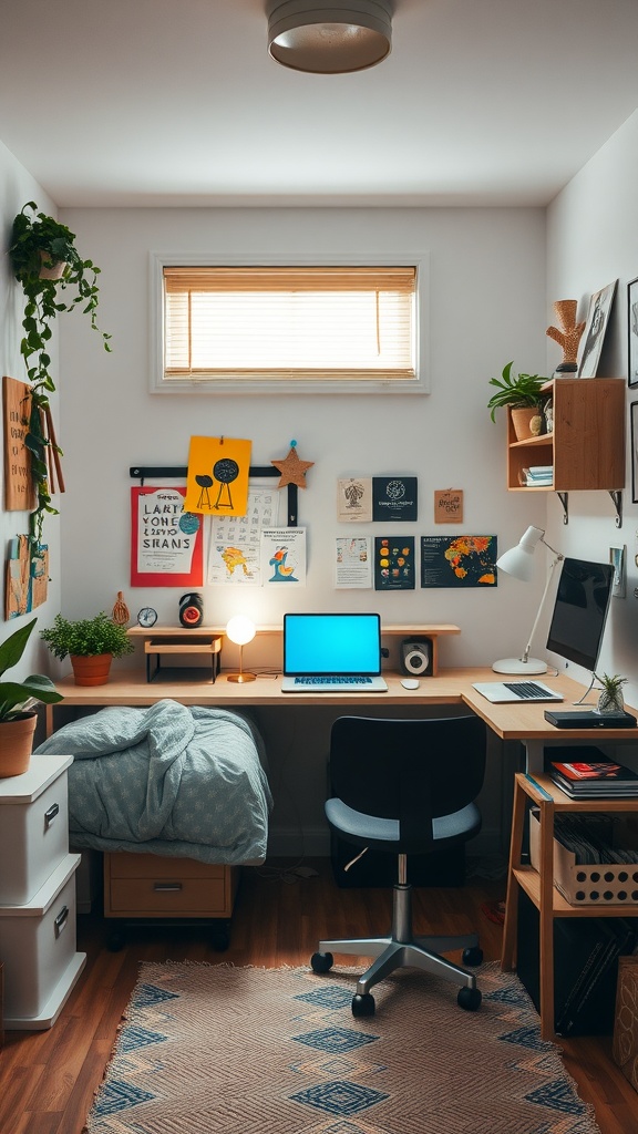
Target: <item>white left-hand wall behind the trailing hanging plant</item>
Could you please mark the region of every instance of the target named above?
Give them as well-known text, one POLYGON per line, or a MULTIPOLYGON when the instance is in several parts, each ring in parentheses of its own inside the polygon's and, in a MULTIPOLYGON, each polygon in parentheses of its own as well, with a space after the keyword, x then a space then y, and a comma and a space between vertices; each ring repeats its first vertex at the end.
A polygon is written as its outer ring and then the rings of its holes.
MULTIPOLYGON (((43 212, 53 213, 54 205, 42 188, 31 177, 26 169, 16 161, 14 155, 0 142, 0 225, 2 232, 2 259, 0 261, 0 376, 7 374, 18 381, 26 379, 26 367, 20 355, 22 319, 24 310, 24 294, 11 273, 11 266, 7 249, 10 244, 11 227, 14 218, 27 201, 36 201, 43 212)), ((58 372, 58 347, 57 340, 51 346, 52 373, 56 380, 58 372)), ((57 417, 58 396, 51 396, 51 405, 54 417, 57 417)), ((28 532, 28 514, 19 511, 7 513, 3 510, 5 500, 5 451, 3 433, 0 448, 2 449, 2 462, 0 467, 0 540, 2 547, 2 579, 5 577, 3 560, 7 555, 8 541, 16 535, 25 535, 28 532)), ((59 498, 58 498, 59 499, 59 498)), ((57 502, 57 501, 56 501, 57 502)), ((48 601, 37 607, 32 615, 19 616, 6 623, 2 627, 1 640, 8 637, 10 633, 19 626, 24 626, 32 617, 37 617, 35 632, 32 634, 23 660, 10 671, 11 678, 23 678, 34 671, 47 671, 49 667, 49 652, 37 637, 37 628, 47 626, 53 615, 60 608, 60 524, 58 519, 45 525, 44 541, 49 544, 50 574, 48 601)), ((2 603, 5 594, 2 587, 2 603)), ((5 608, 0 619, 5 617, 5 608)))

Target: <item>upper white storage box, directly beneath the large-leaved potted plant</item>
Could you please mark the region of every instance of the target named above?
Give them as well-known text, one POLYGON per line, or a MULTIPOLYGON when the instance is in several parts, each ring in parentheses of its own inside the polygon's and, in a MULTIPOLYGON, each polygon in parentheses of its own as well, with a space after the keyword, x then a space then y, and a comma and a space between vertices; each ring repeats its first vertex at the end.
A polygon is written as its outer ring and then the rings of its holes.
POLYGON ((30 902, 68 852, 72 762, 33 755, 26 772, 0 780, 0 911, 30 902))

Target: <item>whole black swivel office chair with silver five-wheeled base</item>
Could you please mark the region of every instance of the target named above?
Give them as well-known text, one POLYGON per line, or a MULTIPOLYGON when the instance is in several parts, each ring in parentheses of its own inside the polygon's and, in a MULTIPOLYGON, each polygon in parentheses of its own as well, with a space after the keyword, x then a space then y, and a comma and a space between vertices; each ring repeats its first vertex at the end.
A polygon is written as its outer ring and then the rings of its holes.
POLYGON ((414 937, 412 932, 408 855, 445 849, 478 835, 481 815, 473 801, 482 787, 485 755, 485 723, 478 717, 341 717, 333 725, 334 797, 326 801, 330 827, 358 847, 398 855, 389 937, 320 941, 310 962, 316 973, 327 973, 333 953, 377 958, 356 982, 354 1016, 373 1015, 372 985, 411 965, 461 985, 461 1008, 476 1012, 480 1006, 475 974, 440 956, 463 949, 463 964, 480 965, 478 934, 414 937))

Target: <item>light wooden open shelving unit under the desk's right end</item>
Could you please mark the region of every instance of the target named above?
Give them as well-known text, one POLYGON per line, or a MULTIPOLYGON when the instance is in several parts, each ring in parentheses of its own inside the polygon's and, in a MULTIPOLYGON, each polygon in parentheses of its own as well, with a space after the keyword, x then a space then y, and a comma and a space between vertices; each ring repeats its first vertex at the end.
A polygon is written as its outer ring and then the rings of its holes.
POLYGON ((503 931, 504 972, 515 967, 519 890, 523 890, 538 909, 539 921, 539 988, 540 1034, 554 1039, 554 919, 555 917, 631 917, 638 914, 636 903, 593 903, 571 905, 554 886, 554 816, 561 812, 627 813, 638 811, 637 799, 570 799, 549 779, 524 773, 514 778, 512 840, 503 931), (524 821, 529 802, 539 812, 539 870, 522 861, 524 821))

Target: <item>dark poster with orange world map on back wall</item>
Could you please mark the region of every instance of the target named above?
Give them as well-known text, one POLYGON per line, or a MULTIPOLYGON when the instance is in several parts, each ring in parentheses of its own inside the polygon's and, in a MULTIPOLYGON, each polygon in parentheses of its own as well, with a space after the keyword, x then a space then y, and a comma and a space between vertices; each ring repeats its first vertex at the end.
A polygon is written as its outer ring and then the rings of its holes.
POLYGON ((495 535, 422 535, 421 586, 496 586, 495 535))

